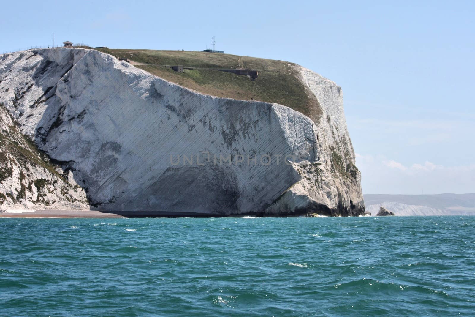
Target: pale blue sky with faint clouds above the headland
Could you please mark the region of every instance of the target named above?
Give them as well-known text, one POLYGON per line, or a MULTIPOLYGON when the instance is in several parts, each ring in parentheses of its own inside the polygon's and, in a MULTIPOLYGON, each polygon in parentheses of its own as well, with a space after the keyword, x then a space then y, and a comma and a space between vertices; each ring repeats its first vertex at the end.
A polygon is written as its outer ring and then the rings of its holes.
POLYGON ((0 52, 70 40, 288 60, 342 86, 365 193, 475 192, 475 1, 4 1, 0 52))

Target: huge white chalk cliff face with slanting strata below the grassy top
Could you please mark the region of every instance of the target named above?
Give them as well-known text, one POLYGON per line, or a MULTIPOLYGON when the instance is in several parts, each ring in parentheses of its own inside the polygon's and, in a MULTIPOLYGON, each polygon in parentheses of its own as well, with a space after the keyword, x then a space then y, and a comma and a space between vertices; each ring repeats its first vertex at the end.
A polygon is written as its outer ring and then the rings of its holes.
MULTIPOLYGON (((362 214, 341 88, 298 70, 321 108, 314 121, 278 104, 203 95, 96 50, 29 50, 0 56, 9 113, 0 119, 11 115, 99 210, 362 214)), ((16 198, 16 174, 0 178, 3 204, 39 206, 33 193, 16 198)), ((65 201, 57 187, 49 192, 55 206, 65 201)))

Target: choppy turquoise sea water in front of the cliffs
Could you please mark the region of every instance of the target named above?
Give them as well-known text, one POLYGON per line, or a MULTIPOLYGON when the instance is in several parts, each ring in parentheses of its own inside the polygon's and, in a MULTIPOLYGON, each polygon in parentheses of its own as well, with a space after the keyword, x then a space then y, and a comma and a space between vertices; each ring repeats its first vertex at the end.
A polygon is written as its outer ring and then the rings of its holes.
POLYGON ((475 217, 0 219, 0 316, 475 316, 475 217))

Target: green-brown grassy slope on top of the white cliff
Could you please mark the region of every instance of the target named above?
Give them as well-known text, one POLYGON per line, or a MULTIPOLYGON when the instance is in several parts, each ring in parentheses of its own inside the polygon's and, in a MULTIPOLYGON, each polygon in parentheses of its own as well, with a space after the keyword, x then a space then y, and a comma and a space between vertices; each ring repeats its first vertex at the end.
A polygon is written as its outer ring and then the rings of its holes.
POLYGON ((116 58, 128 58, 135 62, 135 67, 203 94, 277 103, 314 120, 320 115, 318 101, 298 79, 299 72, 294 63, 198 51, 109 48, 97 50, 116 58), (184 69, 183 73, 178 73, 170 68, 174 65, 194 69, 184 69), (213 68, 249 68, 257 70, 259 77, 251 81, 247 76, 213 68))

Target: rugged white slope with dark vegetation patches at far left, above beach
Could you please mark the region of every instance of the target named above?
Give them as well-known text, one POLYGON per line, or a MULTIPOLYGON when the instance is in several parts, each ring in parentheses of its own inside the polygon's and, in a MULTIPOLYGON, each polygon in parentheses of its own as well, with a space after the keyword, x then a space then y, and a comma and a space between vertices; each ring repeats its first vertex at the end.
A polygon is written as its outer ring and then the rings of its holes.
POLYGON ((70 170, 62 170, 20 133, 0 106, 0 210, 86 209, 83 188, 70 170))

